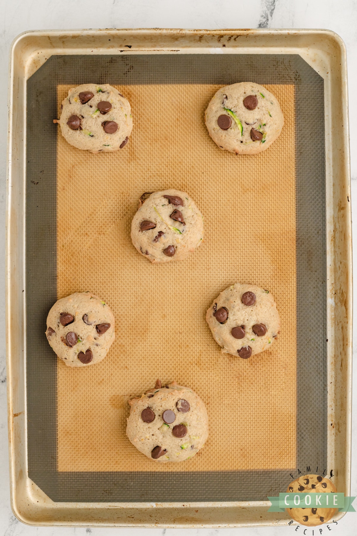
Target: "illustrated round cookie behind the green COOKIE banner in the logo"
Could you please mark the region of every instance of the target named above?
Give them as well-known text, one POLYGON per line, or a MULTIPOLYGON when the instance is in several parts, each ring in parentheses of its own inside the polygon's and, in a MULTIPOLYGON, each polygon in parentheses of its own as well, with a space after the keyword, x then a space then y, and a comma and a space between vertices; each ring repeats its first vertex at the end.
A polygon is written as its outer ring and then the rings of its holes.
MULTIPOLYGON (((337 493, 335 485, 329 478, 317 474, 306 474, 293 480, 286 489, 287 493, 337 493)), ((312 500, 312 503, 314 501, 312 500)), ((332 500, 331 500, 332 504, 332 500)), ((315 503, 316 506, 316 503, 315 503)), ((287 513, 301 525, 314 527, 328 522, 337 512, 337 508, 286 508, 287 513)))

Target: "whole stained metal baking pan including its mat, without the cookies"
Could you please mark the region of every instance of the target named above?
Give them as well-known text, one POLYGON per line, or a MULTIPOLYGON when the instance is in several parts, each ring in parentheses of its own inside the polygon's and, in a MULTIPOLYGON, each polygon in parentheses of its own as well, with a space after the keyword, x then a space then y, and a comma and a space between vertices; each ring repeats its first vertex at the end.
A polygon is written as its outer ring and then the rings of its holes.
MULTIPOLYGON (((351 209, 346 54, 322 30, 28 32, 11 49, 7 368, 11 502, 35 525, 287 524, 268 495, 298 471, 350 490, 351 209), (217 89, 252 80, 282 105, 277 142, 219 151, 203 124, 217 89), (109 83, 131 102, 119 153, 66 144, 70 87, 109 83), (333 135, 332 135, 333 134, 333 135), (188 191, 206 240, 151 266, 130 242, 143 191, 188 191), (269 288, 271 352, 222 356, 204 322, 235 281, 269 288), (57 297, 91 290, 117 318, 95 367, 67 369, 44 337, 57 297), (128 398, 156 377, 205 401, 209 440, 154 465, 125 437, 128 398), (309 470, 307 468, 310 468, 309 470)), ((341 515, 341 514, 340 514, 341 515)))

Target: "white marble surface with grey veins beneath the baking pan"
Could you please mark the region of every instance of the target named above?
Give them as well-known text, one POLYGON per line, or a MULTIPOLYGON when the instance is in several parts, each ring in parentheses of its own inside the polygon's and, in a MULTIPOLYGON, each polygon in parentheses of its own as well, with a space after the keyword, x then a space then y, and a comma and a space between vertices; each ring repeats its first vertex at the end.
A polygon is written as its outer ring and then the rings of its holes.
MULTIPOLYGON (((4 303, 4 243, 5 243, 5 176, 6 176, 6 96, 7 64, 9 48, 16 35, 28 29, 69 29, 69 28, 328 28, 337 32, 345 41, 348 56, 348 84, 350 87, 351 147, 357 144, 357 100, 354 99, 357 85, 357 2, 356 0, 0 0, 0 61, 3 76, 0 77, 0 292, 4 303)), ((355 211, 354 237, 357 237, 357 153, 352 150, 352 211, 355 211)), ((357 267, 357 243, 354 240, 355 275, 357 267)), ((356 278, 357 280, 357 278, 356 278)), ((356 300, 355 300, 356 304, 356 300)), ((356 309, 357 310, 357 309, 356 309)), ((281 536, 293 534, 293 527, 263 528, 222 528, 176 530, 159 528, 50 528, 29 527, 13 516, 9 498, 9 474, 7 456, 6 421, 6 371, 4 343, 4 307, 0 312, 0 536, 92 536, 115 534, 119 536, 159 536, 160 534, 183 534, 208 536, 232 536, 258 534, 261 536, 281 536)), ((357 323, 354 322, 354 333, 357 323)), ((355 340, 357 337, 355 337, 355 340)), ((354 344, 354 358, 357 344, 354 344)), ((354 370, 356 383, 357 370, 354 370)), ((357 442, 357 398, 354 393, 353 443, 357 442)), ((357 495, 357 463, 352 456, 352 495, 357 495)), ((357 501, 356 501, 357 503, 357 501)), ((322 534, 352 536, 357 533, 357 514, 347 513, 331 532, 325 525, 322 534)), ((297 531, 303 533, 303 527, 297 531)), ((312 529, 306 532, 312 535, 312 529)), ((320 534, 315 528, 314 534, 320 534)))

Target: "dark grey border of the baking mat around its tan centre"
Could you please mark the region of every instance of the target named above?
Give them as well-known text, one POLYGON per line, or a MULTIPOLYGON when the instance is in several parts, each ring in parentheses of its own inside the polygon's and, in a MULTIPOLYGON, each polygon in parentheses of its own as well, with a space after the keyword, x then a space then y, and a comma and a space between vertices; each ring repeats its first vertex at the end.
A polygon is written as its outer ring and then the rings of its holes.
MULTIPOLYGON (((326 214, 323 79, 299 55, 52 56, 27 82, 26 326, 28 474, 53 501, 263 501, 289 473, 326 470, 326 214), (169 59, 169 61, 168 61, 169 59), (56 301, 57 84, 294 84, 296 96, 297 467, 276 471, 59 473, 57 362, 44 337, 56 301), (79 63, 78 63, 79 62, 79 63), (87 76, 79 75, 88 73, 87 76), (314 117, 314 122, 310 121, 314 117), (308 195, 307 195, 308 192, 308 195), (312 327, 313 326, 313 327, 312 327), (314 393, 312 395, 312 393, 314 393), (315 403, 312 403, 312 398, 315 403), (316 401, 319 401, 317 404, 316 401)), ((286 393, 288 397, 288 393, 286 393)))

